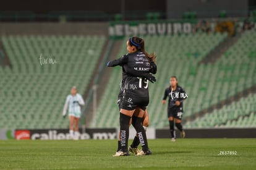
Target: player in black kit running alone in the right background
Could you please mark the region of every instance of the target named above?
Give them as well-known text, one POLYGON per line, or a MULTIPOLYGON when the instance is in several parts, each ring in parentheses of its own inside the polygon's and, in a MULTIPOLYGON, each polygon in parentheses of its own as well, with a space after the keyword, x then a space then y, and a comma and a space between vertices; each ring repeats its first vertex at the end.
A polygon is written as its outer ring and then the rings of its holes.
POLYGON ((185 131, 182 129, 181 119, 183 114, 183 101, 187 98, 187 93, 178 85, 177 77, 172 76, 170 86, 164 91, 163 104, 166 103, 166 98, 169 97, 168 101, 168 120, 171 132, 171 141, 176 141, 176 134, 174 131, 174 119, 177 129, 181 132, 181 138, 185 138, 185 131))

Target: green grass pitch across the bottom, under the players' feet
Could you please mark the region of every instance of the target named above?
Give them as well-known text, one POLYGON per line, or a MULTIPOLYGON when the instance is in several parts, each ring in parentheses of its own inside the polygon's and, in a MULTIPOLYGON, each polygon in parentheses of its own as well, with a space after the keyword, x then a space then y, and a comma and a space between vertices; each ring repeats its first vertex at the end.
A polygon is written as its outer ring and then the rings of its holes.
POLYGON ((113 157, 116 140, 2 140, 0 169, 256 169, 255 138, 148 143, 153 155, 113 157))

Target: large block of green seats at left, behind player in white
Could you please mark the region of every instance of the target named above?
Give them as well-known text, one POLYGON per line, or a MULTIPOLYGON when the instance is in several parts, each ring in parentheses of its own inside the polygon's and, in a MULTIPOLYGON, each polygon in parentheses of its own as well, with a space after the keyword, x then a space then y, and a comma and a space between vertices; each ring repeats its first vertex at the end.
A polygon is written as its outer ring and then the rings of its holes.
POLYGON ((100 35, 1 36, 11 67, 0 67, 0 128, 67 128, 66 96, 73 85, 85 93, 105 40, 100 35))

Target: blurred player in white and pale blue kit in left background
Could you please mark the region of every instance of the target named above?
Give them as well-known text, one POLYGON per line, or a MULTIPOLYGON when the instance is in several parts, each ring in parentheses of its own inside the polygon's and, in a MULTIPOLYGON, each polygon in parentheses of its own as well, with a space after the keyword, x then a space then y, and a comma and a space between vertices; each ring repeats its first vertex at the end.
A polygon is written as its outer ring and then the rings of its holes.
POLYGON ((79 119, 81 116, 81 106, 85 104, 82 96, 77 93, 77 88, 72 87, 70 95, 67 96, 64 104, 62 116, 66 117, 67 108, 69 108, 69 134, 70 138, 74 140, 79 139, 79 119), (74 134, 75 125, 75 134, 74 134))

